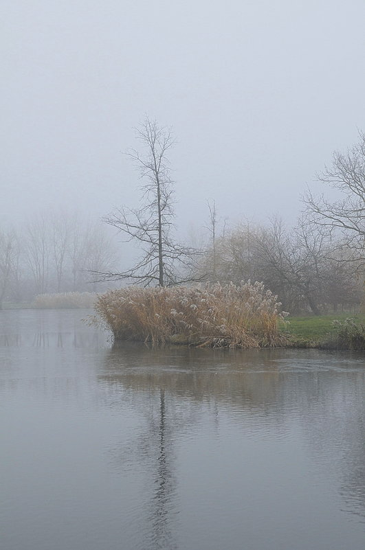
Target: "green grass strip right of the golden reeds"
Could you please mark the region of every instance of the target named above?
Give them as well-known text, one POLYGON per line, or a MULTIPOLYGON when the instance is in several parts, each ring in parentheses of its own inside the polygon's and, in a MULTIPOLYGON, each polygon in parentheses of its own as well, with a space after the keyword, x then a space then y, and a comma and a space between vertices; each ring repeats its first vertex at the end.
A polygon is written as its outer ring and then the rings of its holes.
POLYGON ((289 335, 288 341, 291 347, 365 349, 364 340, 361 343, 365 327, 365 314, 341 313, 288 317, 287 321, 289 322, 286 323, 285 330, 289 335), (353 321, 346 321, 346 319, 353 321), (355 343, 353 339, 359 343, 355 343))

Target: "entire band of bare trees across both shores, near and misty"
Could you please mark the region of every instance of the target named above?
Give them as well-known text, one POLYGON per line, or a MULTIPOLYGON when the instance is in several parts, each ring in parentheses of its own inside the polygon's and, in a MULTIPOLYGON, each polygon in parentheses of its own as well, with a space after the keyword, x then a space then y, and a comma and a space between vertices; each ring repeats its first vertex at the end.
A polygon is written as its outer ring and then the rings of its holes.
POLYGON ((34 216, 19 231, 0 229, 0 306, 5 299, 27 301, 41 293, 100 291, 112 281, 163 287, 248 279, 263 282, 291 313, 355 310, 364 303, 363 133, 346 153, 335 152, 332 164, 318 174, 319 182, 338 191, 338 200, 309 190, 294 228, 279 217, 227 227, 210 201, 203 247, 176 237, 170 130, 146 117, 136 137, 140 150, 127 155, 142 179, 138 209, 116 207, 104 217, 106 225, 58 213, 34 216), (130 268, 120 268, 107 225, 140 249, 130 268))

